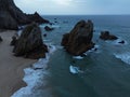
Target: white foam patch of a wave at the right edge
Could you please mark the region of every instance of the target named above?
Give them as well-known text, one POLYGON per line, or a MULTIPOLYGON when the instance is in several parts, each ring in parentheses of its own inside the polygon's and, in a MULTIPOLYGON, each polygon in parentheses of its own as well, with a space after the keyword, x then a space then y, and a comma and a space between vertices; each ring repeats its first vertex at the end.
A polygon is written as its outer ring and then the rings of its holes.
POLYGON ((130 53, 114 54, 116 58, 121 59, 123 63, 130 65, 130 53))

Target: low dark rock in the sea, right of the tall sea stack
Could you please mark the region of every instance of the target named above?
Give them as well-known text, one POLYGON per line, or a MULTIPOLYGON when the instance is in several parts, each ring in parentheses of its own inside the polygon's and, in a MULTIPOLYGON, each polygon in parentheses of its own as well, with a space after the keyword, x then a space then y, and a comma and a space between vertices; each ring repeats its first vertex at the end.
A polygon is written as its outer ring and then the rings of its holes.
POLYGON ((102 31, 100 39, 102 39, 102 40, 117 40, 118 38, 116 36, 109 34, 109 31, 102 31))

